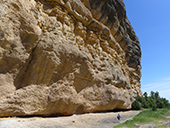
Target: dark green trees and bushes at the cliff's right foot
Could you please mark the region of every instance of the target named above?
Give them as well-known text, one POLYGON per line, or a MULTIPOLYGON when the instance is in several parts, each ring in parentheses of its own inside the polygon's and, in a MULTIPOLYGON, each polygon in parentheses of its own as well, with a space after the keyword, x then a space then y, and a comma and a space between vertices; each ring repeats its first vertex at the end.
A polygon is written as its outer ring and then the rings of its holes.
POLYGON ((170 103, 166 98, 161 98, 159 92, 151 91, 150 96, 147 92, 143 96, 137 96, 132 103, 133 110, 140 110, 141 108, 151 108, 156 111, 157 108, 170 108, 170 103))

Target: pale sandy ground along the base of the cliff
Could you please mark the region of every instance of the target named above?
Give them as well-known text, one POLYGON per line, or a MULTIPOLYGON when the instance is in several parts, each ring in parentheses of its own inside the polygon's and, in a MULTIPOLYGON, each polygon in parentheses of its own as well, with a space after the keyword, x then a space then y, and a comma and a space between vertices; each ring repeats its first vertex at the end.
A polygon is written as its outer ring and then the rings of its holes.
POLYGON ((0 128, 113 128, 138 114, 140 111, 89 113, 67 117, 51 118, 9 118, 0 119, 0 128))

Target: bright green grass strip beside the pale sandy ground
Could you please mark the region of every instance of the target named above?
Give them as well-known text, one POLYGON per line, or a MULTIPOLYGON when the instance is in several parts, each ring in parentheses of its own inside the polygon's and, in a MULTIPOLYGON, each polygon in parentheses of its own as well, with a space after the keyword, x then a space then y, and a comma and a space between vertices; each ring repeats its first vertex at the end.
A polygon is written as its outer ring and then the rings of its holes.
POLYGON ((143 110, 138 115, 134 116, 132 120, 128 120, 122 124, 114 126, 114 128, 129 127, 134 128, 136 124, 157 124, 159 121, 165 121, 166 116, 170 116, 170 110, 167 108, 157 109, 152 111, 151 109, 143 110))

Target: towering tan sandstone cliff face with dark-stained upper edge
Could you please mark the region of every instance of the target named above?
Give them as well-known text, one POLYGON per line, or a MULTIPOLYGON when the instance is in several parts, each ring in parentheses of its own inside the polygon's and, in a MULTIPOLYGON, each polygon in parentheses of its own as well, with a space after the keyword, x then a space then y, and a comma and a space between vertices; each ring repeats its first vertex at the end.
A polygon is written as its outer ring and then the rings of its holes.
POLYGON ((130 109, 140 57, 122 0, 1 0, 0 116, 130 109))

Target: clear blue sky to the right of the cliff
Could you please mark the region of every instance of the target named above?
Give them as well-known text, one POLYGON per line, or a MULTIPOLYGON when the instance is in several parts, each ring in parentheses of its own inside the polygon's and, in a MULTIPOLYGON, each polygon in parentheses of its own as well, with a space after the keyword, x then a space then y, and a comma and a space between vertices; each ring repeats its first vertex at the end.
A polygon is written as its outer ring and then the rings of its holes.
POLYGON ((170 101, 170 0, 123 0, 142 50, 142 92, 170 101))

